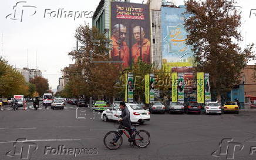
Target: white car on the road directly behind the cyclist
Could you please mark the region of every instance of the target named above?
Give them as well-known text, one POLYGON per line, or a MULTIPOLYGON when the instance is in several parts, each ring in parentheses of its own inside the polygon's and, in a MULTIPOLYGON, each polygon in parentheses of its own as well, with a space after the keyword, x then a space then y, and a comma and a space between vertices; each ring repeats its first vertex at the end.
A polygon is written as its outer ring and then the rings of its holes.
MULTIPOLYGON (((130 120, 132 123, 140 123, 143 124, 145 121, 150 120, 150 113, 147 110, 144 110, 142 106, 126 103, 126 107, 130 112, 130 120)), ((103 121, 108 120, 119 120, 119 116, 121 116, 122 111, 120 110, 119 105, 114 105, 112 109, 107 109, 102 112, 101 119, 103 121)))

